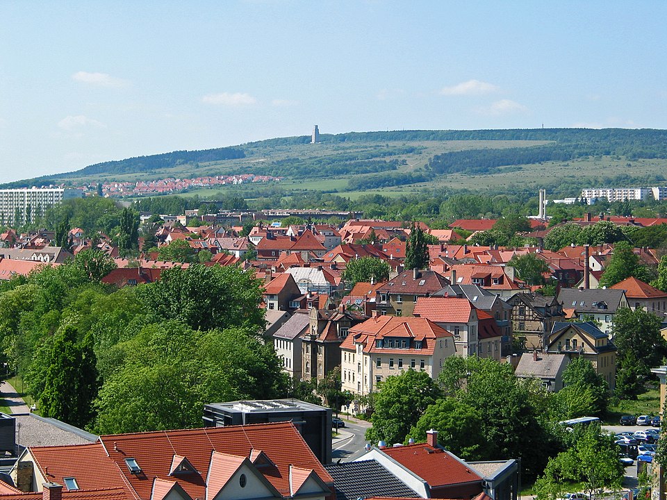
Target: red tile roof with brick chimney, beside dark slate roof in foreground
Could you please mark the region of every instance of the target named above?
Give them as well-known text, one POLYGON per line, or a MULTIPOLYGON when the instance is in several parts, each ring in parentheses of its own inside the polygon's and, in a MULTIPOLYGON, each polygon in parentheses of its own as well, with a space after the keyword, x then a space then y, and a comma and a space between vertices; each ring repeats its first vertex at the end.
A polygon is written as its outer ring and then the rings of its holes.
POLYGON ((383 451, 420 476, 431 488, 481 481, 481 477, 461 460, 443 449, 428 444, 411 444, 383 451))

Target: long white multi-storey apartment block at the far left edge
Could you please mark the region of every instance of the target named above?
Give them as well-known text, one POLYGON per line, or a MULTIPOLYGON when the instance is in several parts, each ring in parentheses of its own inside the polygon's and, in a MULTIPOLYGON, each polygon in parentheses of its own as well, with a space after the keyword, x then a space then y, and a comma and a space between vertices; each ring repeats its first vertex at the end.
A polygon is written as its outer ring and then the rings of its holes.
POLYGON ((0 190, 0 224, 35 222, 35 217, 44 215, 47 208, 82 194, 81 190, 63 188, 0 190))

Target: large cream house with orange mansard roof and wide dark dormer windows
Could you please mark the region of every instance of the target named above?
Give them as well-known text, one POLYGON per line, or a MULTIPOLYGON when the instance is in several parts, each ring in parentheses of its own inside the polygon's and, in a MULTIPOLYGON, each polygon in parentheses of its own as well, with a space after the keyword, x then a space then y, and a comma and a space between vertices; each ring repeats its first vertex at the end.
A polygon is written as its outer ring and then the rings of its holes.
POLYGON ((340 350, 342 389, 360 396, 409 368, 437 378, 443 360, 456 354, 454 336, 441 326, 425 318, 395 316, 372 317, 352 326, 340 350))

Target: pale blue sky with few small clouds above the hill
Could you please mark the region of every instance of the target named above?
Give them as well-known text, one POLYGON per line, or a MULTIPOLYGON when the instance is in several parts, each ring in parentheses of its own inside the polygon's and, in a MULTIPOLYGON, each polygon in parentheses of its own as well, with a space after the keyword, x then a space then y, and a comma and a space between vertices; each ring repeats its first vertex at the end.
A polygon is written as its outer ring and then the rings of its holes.
POLYGON ((665 1, 0 2, 0 182, 347 131, 667 128, 665 1))

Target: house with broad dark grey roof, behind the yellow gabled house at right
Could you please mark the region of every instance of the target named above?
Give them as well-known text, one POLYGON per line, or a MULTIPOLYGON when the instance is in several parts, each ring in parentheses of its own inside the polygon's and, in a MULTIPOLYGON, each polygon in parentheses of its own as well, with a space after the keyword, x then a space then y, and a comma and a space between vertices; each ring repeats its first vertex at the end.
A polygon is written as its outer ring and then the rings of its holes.
POLYGON ((620 308, 629 307, 623 290, 562 288, 558 301, 563 308, 574 309, 577 317, 600 322, 600 329, 611 335, 611 319, 620 308))

